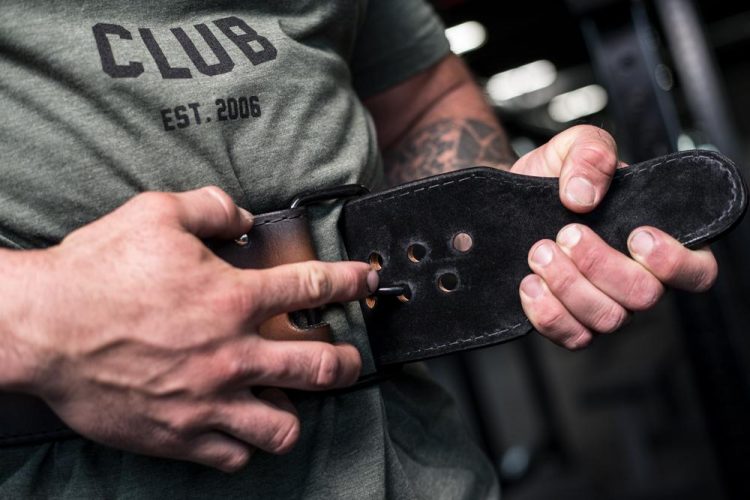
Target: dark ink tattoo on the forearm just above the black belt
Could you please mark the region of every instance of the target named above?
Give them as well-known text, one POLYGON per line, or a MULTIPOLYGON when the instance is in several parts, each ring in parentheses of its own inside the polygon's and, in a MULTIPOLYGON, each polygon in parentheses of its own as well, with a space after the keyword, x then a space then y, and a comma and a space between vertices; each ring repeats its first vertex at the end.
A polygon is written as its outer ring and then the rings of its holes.
POLYGON ((391 185, 476 165, 507 169, 515 160, 502 130, 473 118, 439 120, 384 154, 391 185))

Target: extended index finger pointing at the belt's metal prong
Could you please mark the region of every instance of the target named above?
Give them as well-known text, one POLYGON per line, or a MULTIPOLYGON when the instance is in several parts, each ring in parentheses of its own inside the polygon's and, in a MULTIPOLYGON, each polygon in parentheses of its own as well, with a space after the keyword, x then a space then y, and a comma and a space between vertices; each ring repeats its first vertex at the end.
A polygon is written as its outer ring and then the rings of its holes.
POLYGON ((378 274, 364 262, 308 261, 239 271, 252 309, 261 322, 276 314, 332 302, 359 300, 378 287, 378 274))

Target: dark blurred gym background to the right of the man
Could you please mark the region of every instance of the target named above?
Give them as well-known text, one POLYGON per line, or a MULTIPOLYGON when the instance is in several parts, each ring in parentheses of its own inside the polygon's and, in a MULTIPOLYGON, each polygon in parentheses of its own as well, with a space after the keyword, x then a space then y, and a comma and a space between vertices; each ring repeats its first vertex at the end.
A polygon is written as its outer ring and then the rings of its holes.
MULTIPOLYGON (((517 152, 577 123, 609 130, 625 161, 718 149, 748 176, 750 6, 690 0, 434 0, 477 21, 462 54, 481 85, 550 61, 550 86, 495 109, 517 152), (568 122, 550 101, 598 84, 607 105, 568 122)), ((748 221, 713 246, 706 294, 669 292, 620 332, 571 353, 538 335, 431 361, 497 465, 505 498, 750 498, 748 221)))

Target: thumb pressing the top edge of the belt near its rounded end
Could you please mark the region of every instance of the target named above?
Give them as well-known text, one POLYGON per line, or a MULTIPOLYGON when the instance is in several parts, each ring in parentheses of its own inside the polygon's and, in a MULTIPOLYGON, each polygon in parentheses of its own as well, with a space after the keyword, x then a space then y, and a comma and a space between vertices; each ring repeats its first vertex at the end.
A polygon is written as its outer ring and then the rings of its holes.
POLYGON ((551 143, 563 158, 560 168, 560 200, 578 213, 593 210, 609 189, 619 166, 617 146, 603 129, 590 125, 570 128, 551 143))

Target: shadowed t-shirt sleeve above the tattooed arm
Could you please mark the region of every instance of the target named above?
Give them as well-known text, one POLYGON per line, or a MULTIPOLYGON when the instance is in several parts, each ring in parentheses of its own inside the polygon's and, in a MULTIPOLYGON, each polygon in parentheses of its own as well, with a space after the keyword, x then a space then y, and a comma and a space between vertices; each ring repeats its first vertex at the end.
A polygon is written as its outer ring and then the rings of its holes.
POLYGON ((424 0, 370 0, 352 52, 352 83, 372 96, 429 68, 448 52, 445 27, 424 0))

